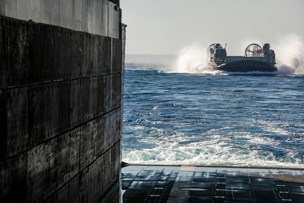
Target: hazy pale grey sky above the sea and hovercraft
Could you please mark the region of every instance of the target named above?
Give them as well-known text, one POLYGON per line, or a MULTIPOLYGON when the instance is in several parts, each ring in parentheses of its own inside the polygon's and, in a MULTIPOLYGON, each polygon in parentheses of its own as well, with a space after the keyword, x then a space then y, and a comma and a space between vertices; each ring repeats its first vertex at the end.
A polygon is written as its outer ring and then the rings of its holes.
POLYGON ((304 0, 120 0, 126 54, 178 54, 198 43, 243 55, 280 35, 304 39, 304 0))

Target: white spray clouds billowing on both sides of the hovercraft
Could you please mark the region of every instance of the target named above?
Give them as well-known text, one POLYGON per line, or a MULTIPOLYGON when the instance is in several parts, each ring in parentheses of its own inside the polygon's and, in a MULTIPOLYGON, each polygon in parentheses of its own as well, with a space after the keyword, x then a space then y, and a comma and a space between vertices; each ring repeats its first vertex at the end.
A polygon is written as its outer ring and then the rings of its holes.
MULTIPOLYGON (((277 42, 271 44, 271 48, 276 54, 276 74, 304 75, 304 46, 300 37, 295 34, 278 35, 277 42)), ((212 71, 208 68, 206 50, 207 47, 202 47, 198 43, 185 47, 179 54, 172 72, 225 74, 223 71, 212 71)))

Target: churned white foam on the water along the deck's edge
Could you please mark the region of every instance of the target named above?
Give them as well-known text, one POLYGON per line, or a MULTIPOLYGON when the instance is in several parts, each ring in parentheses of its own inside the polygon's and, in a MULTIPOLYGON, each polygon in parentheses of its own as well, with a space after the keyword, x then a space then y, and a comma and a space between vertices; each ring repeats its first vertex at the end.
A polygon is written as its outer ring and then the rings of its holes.
MULTIPOLYGON (((158 131, 157 129, 154 129, 158 131)), ((141 142, 154 144, 149 149, 123 148, 123 161, 133 164, 185 164, 185 165, 219 165, 219 166, 273 166, 273 167, 298 167, 301 159, 294 158, 296 153, 289 152, 287 158, 279 161, 272 152, 261 151, 260 147, 251 148, 259 144, 275 147, 278 142, 273 138, 254 137, 244 135, 246 138, 241 149, 235 148, 235 140, 239 137, 209 135, 206 140, 192 142, 199 137, 187 136, 176 132, 168 136, 168 132, 157 132, 167 136, 155 136, 152 132, 150 137, 141 139, 141 142), (189 143, 187 143, 189 141, 189 143), (186 144, 181 144, 184 142, 186 144), (289 157, 289 159, 288 159, 289 157), (287 159, 287 160, 286 160, 287 159), (289 161, 288 161, 289 160, 289 161)))

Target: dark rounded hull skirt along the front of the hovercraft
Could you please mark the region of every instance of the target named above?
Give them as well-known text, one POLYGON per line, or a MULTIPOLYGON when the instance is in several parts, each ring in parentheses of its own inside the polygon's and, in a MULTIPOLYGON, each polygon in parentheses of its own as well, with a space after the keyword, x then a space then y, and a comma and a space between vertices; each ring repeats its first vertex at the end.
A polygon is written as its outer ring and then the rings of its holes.
POLYGON ((227 72, 277 72, 278 68, 264 61, 237 60, 224 63, 219 66, 211 66, 211 69, 227 72))

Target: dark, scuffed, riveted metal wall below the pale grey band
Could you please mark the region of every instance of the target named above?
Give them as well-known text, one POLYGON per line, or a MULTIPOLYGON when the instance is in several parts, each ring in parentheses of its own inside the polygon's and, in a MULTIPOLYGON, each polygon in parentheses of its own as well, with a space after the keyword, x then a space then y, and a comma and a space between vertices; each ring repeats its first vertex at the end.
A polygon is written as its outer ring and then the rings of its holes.
POLYGON ((94 202, 121 174, 125 38, 0 23, 0 202, 94 202))

